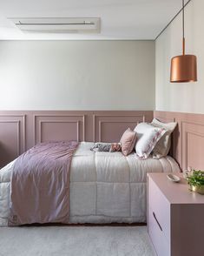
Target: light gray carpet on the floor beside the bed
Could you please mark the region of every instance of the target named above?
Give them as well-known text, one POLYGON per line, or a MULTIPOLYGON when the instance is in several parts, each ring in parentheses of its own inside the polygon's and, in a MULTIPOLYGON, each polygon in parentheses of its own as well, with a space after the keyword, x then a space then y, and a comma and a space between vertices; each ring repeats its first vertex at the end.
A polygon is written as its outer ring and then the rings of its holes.
POLYGON ((1 256, 155 256, 146 226, 0 228, 1 256))

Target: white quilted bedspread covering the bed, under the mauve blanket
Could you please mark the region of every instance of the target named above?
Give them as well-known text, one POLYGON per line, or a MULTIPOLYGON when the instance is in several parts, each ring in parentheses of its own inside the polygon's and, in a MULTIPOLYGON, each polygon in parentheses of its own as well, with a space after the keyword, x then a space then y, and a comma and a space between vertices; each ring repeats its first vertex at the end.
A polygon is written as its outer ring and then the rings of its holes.
MULTIPOLYGON (((70 223, 146 221, 147 172, 180 172, 173 158, 145 160, 135 154, 91 152, 82 142, 70 170, 70 223)), ((0 226, 7 226, 10 174, 14 162, 0 170, 0 226)))

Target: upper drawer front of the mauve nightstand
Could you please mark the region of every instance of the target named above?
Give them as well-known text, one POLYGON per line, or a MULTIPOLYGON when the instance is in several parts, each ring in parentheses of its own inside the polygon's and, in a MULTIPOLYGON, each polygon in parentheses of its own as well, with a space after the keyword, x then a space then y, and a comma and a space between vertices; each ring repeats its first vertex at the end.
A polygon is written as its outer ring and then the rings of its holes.
POLYGON ((162 233, 170 242, 170 204, 151 179, 148 179, 148 209, 152 210, 149 214, 152 218, 155 217, 162 233))

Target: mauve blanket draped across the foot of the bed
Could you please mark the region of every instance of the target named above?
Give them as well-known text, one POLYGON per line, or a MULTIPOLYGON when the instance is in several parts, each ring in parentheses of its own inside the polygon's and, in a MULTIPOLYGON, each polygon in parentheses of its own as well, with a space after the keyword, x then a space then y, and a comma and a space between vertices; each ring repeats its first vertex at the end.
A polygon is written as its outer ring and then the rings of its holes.
POLYGON ((69 169, 77 145, 75 141, 42 143, 16 159, 9 226, 69 223, 69 169))

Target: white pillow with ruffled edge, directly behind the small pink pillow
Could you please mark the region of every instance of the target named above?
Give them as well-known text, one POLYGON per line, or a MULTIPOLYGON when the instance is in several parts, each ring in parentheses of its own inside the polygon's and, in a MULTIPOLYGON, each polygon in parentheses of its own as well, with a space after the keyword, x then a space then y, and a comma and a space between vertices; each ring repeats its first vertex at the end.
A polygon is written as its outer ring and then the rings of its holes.
POLYGON ((148 123, 136 125, 134 131, 137 137, 135 152, 139 158, 148 158, 149 154, 155 148, 156 143, 166 132, 165 129, 155 127, 148 123))

